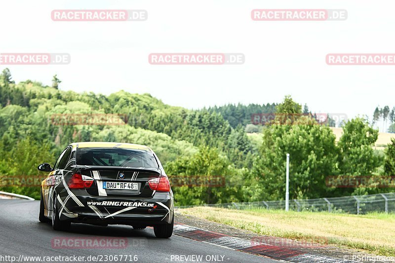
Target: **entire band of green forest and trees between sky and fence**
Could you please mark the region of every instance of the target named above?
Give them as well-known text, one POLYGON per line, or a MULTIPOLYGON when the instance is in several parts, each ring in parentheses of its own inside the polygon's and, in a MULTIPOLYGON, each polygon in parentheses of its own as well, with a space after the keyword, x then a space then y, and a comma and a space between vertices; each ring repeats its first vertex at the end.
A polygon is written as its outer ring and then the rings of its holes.
MULTIPOLYGON (((26 80, 15 83, 8 69, 0 75, 0 183, 10 176, 41 176, 42 162, 54 163, 71 142, 113 141, 150 146, 170 182, 221 176, 221 186, 173 187, 177 205, 283 199, 285 153, 290 153, 290 198, 317 198, 392 191, 394 188, 330 188, 334 175, 395 174, 395 141, 373 150, 378 131, 367 120, 343 124, 335 142, 329 125, 318 125, 308 108, 286 96, 282 102, 188 110, 164 104, 150 94, 118 91, 109 96, 76 93, 26 80), (65 114, 118 114, 124 125, 57 125, 65 114), (251 124, 251 114, 297 114, 271 125, 251 124), (123 123, 124 121, 124 123, 123 123)), ((39 187, 7 186, 6 191, 39 197, 39 187)))

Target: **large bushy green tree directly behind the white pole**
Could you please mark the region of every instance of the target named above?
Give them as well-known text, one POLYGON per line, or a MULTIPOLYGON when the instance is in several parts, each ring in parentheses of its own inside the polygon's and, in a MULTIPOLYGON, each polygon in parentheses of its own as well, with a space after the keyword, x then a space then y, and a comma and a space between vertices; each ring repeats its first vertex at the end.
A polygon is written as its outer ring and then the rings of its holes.
POLYGON ((249 177, 253 200, 284 198, 286 153, 290 154, 290 198, 328 196, 325 179, 338 174, 338 149, 329 127, 273 125, 263 133, 261 155, 255 158, 249 177))

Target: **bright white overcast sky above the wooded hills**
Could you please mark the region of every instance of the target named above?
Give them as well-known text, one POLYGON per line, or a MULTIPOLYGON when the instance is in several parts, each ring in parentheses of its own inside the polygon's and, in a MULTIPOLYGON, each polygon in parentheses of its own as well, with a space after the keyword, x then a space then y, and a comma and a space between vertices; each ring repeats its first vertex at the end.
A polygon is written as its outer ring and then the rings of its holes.
POLYGON ((1 1, 0 53, 70 53, 69 65, 8 67, 62 90, 151 93, 190 109, 280 102, 372 115, 395 106, 395 66, 328 66, 328 53, 395 53, 392 1, 1 1), (252 21, 252 9, 347 9, 346 21, 252 21), (145 9, 144 22, 54 22, 53 9, 145 9), (243 65, 150 65, 150 53, 243 53, 243 65))

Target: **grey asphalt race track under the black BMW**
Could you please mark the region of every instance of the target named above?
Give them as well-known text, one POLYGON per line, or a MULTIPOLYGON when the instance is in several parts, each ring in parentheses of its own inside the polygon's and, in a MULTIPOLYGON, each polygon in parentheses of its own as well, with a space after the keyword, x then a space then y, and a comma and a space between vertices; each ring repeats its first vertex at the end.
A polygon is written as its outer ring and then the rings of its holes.
MULTIPOLYGON (((68 232, 55 231, 50 224, 38 220, 39 201, 0 199, 0 262, 48 262, 44 258, 25 257, 85 257, 81 262, 96 262, 88 257, 98 257, 100 262, 225 262, 225 263, 273 263, 278 262, 259 256, 234 251, 204 242, 173 235, 170 239, 159 239, 152 228, 135 230, 126 225, 95 226, 72 224, 68 232), (126 248, 54 248, 54 239, 63 238, 127 238, 126 248), (51 243, 52 240, 52 243, 51 243), (110 261, 108 256, 118 256, 110 261), (130 255, 130 256, 129 256, 130 255), (8 256, 8 258, 6 258, 8 256), (107 261, 105 261, 107 258, 107 261), (196 256, 202 256, 197 261, 196 256), (189 257, 189 258, 188 258, 189 257), (218 259, 216 259, 218 258, 218 259), (126 261, 125 261, 126 259, 126 261), (130 261, 132 260, 132 261, 130 261)), ((56 261, 55 258, 49 262, 56 261), (53 261, 52 261, 53 260, 53 261)), ((64 258, 63 262, 66 262, 64 258)), ((73 259, 74 260, 74 259, 73 259)), ((78 259, 77 259, 78 260, 78 259)), ((78 261, 69 261, 78 262, 78 261)))

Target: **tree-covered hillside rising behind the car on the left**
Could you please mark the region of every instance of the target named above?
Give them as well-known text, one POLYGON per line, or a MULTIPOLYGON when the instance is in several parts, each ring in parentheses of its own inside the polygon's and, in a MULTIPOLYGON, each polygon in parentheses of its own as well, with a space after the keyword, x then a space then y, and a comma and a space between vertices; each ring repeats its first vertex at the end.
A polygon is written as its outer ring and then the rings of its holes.
POLYGON ((252 150, 249 141, 243 139, 244 129, 233 129, 215 111, 173 107, 147 93, 121 90, 105 96, 63 91, 31 80, 16 84, 4 74, 0 77, 1 136, 10 140, 29 136, 38 142, 47 141, 56 153, 73 141, 147 144, 158 150, 163 162, 190 156, 198 147, 208 146, 218 148, 242 166, 243 155, 252 150), (120 114, 126 125, 52 123, 67 114, 120 114))

